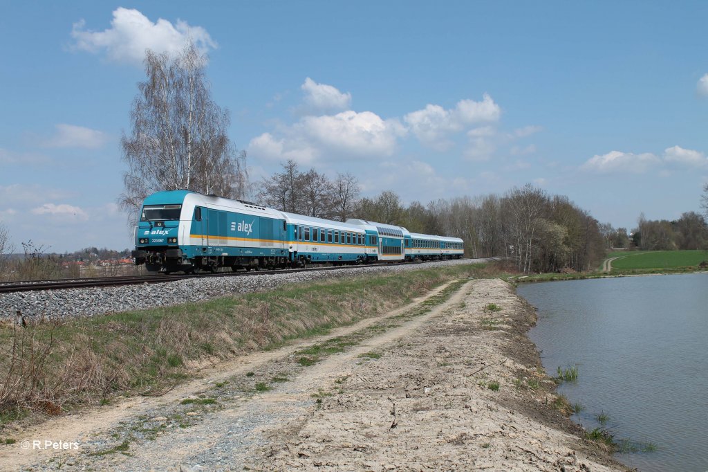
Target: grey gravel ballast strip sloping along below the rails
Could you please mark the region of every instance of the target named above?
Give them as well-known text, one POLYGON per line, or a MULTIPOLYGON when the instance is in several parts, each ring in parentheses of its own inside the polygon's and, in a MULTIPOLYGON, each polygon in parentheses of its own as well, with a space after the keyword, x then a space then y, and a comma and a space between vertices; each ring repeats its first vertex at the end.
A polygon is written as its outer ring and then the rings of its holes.
POLYGON ((302 283, 333 277, 401 272, 458 264, 478 264, 486 259, 454 259, 425 264, 395 266, 354 266, 336 271, 302 271, 291 274, 253 274, 251 276, 186 279, 145 285, 105 288, 67 288, 16 292, 0 295, 0 318, 15 320, 17 310, 28 320, 78 318, 128 310, 207 300, 234 293, 267 291, 284 283, 302 283))

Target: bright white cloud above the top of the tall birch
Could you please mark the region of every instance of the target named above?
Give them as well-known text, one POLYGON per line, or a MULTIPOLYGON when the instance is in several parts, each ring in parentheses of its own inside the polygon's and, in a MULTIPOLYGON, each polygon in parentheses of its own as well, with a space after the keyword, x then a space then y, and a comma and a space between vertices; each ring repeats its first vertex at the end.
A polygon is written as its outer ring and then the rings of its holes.
POLYGON ((173 54, 183 50, 190 40, 201 52, 217 47, 207 30, 200 26, 189 26, 181 20, 173 25, 162 18, 153 23, 135 9, 115 9, 113 21, 106 30, 91 31, 85 26, 84 20, 74 23, 72 38, 76 43, 72 48, 94 54, 105 51, 108 60, 115 62, 142 64, 146 49, 173 54))

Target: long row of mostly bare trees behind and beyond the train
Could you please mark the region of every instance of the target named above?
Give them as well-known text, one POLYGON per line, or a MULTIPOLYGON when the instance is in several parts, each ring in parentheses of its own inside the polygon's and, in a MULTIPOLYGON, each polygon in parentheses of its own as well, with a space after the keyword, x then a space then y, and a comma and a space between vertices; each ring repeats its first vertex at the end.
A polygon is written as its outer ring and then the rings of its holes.
POLYGON ((462 237, 468 257, 509 257, 523 272, 597 267, 607 249, 706 249, 708 226, 702 215, 683 213, 676 221, 646 220, 615 229, 601 224, 566 196, 549 195, 526 185, 503 193, 413 201, 408 206, 392 191, 360 198, 355 176, 336 179, 297 164, 258 183, 259 203, 301 215, 344 221, 347 218, 389 223, 411 232, 462 237))

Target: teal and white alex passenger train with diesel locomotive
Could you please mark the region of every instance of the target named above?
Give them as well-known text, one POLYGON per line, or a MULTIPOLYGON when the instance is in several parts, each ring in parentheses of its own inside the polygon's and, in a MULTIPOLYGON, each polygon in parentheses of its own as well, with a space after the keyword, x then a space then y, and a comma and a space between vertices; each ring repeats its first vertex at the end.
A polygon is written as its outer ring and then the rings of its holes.
POLYGON ((222 267, 236 271, 459 259, 463 253, 459 237, 412 233, 358 218, 341 223, 172 190, 145 198, 132 257, 150 272, 190 274, 222 267))

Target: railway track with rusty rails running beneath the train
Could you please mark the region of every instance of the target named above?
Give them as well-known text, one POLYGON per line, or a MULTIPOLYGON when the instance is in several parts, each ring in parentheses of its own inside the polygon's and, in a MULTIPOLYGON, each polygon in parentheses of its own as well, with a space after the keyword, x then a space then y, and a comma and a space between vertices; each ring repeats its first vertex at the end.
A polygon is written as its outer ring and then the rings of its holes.
MULTIPOLYGON (((399 262, 386 264, 370 264, 366 267, 382 267, 396 266, 401 264, 424 264, 424 262, 399 262)), ((145 276, 116 276, 116 277, 92 277, 87 279, 59 279, 59 280, 43 280, 43 281, 17 281, 0 283, 0 293, 13 293, 24 291, 40 291, 40 290, 61 290, 64 288, 91 288, 91 287, 110 287, 122 285, 139 285, 142 283, 164 283, 173 282, 184 279, 199 279, 206 277, 243 277, 256 274, 274 275, 274 274, 291 274, 295 272, 307 271, 334 271, 339 269, 351 269, 360 266, 331 266, 331 267, 307 267, 304 269, 277 269, 267 271, 243 271, 243 272, 217 272, 215 274, 162 274, 162 275, 145 275, 145 276)))

